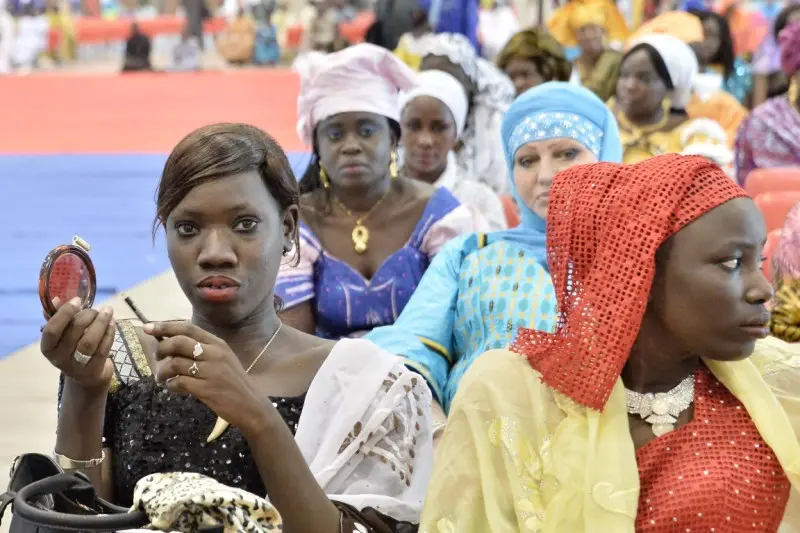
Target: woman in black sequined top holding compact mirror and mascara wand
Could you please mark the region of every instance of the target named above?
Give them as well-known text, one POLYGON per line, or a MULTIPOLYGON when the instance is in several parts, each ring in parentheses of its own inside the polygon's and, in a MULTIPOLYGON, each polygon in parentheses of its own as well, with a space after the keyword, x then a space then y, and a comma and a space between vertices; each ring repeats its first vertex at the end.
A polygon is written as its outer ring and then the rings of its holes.
POLYGON ((418 521, 433 462, 423 380, 367 341, 325 341, 278 318, 298 200, 286 155, 257 128, 205 126, 175 147, 155 225, 191 322, 140 328, 61 302, 41 349, 62 372, 62 467, 121 505, 150 474, 203 474, 267 495, 287 532, 418 521))

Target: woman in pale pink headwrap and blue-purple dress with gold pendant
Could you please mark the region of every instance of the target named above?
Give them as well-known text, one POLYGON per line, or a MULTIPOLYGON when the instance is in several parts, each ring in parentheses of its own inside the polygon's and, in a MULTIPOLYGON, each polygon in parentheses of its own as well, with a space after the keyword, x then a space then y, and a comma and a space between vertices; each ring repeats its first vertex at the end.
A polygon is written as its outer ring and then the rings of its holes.
POLYGON ((300 259, 281 268, 283 319, 326 339, 394 323, 436 252, 486 220, 445 188, 402 176, 398 91, 414 72, 359 44, 301 80, 298 132, 314 159, 300 190, 300 259))

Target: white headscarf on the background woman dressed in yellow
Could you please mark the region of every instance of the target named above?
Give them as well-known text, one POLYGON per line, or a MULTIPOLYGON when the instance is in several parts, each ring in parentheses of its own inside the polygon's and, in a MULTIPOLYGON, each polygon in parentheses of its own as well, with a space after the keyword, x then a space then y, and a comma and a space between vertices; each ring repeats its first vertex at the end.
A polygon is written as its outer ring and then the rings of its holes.
POLYGON ((694 50, 677 37, 665 33, 640 37, 630 44, 630 48, 638 44, 649 44, 664 60, 674 87, 669 94, 672 99, 672 107, 686 109, 692 97, 692 87, 699 70, 694 50))

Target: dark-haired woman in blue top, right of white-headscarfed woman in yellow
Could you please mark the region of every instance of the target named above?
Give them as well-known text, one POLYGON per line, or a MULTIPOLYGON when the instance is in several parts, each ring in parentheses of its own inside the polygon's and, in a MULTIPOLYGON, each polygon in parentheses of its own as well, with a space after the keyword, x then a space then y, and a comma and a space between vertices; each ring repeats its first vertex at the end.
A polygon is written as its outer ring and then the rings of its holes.
POLYGON ((690 10, 703 23, 703 40, 694 47, 700 71, 722 76, 726 91, 745 103, 753 90, 750 65, 733 52, 733 38, 728 21, 713 11, 690 10))

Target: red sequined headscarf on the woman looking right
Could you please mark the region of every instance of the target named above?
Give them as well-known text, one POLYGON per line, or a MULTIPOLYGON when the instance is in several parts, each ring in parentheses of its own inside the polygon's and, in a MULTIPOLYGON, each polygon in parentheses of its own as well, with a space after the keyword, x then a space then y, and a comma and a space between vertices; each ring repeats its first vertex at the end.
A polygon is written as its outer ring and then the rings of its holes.
POLYGON ((639 333, 656 251, 693 220, 743 196, 718 166, 697 156, 558 174, 547 218, 556 331, 522 328, 511 349, 528 357, 548 386, 602 410, 639 333))

